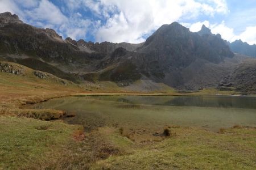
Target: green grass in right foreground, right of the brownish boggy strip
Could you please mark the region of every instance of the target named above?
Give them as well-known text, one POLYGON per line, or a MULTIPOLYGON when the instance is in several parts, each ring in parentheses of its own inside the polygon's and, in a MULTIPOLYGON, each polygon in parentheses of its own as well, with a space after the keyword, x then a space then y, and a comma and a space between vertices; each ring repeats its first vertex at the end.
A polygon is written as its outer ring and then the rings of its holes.
POLYGON ((224 134, 193 128, 172 129, 176 136, 110 156, 92 169, 255 169, 256 130, 228 129, 224 134))

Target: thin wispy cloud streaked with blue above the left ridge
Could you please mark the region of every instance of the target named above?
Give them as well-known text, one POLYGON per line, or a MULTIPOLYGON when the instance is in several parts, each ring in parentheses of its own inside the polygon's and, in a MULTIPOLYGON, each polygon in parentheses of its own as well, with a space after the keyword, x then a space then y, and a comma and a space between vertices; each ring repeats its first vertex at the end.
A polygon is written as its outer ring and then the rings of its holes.
MULTIPOLYGON (((69 0, 70 4, 77 5, 69 0)), ((79 4, 78 4, 79 5, 79 4)), ((73 7, 76 8, 76 7, 73 7)), ((84 19, 79 12, 71 12, 66 16, 60 8, 48 0, 0 0, 0 12, 10 11, 17 14, 23 22, 36 27, 55 29, 61 36, 72 39, 85 38, 92 21, 84 19)), ((94 22, 98 27, 98 22, 94 22)))

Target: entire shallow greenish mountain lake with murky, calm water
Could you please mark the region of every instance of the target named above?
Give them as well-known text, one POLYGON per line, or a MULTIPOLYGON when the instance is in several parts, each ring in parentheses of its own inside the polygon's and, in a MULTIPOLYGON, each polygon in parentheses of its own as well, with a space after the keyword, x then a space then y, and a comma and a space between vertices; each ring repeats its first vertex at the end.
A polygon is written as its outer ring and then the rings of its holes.
POLYGON ((217 131, 256 126, 256 97, 243 96, 85 96, 63 97, 30 108, 62 109, 76 116, 64 121, 90 131, 117 126, 153 133, 164 126, 197 126, 217 131))

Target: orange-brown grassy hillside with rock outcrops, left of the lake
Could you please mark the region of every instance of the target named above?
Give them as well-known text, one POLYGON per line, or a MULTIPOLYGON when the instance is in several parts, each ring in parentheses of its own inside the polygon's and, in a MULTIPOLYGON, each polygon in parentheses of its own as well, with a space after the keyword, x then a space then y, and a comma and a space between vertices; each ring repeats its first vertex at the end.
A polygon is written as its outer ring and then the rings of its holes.
POLYGON ((77 84, 55 75, 4 61, 0 61, 0 87, 1 104, 17 105, 84 91, 77 84))

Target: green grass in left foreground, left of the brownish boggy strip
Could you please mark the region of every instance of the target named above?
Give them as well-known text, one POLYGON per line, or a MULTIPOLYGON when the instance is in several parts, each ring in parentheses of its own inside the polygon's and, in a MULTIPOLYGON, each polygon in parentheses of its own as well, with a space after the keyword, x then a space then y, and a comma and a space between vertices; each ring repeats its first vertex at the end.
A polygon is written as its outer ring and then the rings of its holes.
POLYGON ((61 122, 0 117, 0 169, 35 168, 60 159, 58 150, 73 141, 77 129, 61 122))

